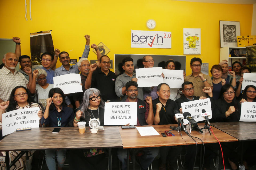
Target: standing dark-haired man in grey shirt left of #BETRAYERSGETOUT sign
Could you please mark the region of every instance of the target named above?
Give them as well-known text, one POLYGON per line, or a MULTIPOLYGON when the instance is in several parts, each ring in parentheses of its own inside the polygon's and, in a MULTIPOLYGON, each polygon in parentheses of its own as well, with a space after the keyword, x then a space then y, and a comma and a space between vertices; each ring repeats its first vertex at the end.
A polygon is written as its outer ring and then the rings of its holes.
MULTIPOLYGON (((121 100, 126 99, 127 95, 126 93, 126 87, 125 84, 129 81, 137 82, 136 74, 133 73, 134 71, 134 65, 133 65, 133 59, 131 57, 126 57, 122 60, 123 64, 123 70, 124 73, 119 75, 117 79, 115 80, 115 93, 118 97, 121 98, 121 100)), ((143 98, 143 88, 138 88, 139 94, 138 98, 141 100, 144 100, 143 98)))

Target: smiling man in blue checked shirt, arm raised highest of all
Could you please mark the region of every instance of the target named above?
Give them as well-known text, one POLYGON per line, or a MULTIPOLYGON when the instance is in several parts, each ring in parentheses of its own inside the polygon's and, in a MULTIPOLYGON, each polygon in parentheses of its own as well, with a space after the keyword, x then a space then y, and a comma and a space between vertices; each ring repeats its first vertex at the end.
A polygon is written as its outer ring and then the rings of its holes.
MULTIPOLYGON (((85 39, 86 39, 85 50, 84 50, 81 58, 88 58, 88 55, 90 52, 90 48, 89 48, 90 35, 85 35, 85 39)), ((55 76, 69 74, 69 73, 79 74, 77 63, 72 66, 70 66, 70 64, 69 64, 69 62, 70 62, 69 53, 67 53, 65 51, 59 53, 59 62, 61 62, 62 65, 59 68, 55 69, 55 76)))

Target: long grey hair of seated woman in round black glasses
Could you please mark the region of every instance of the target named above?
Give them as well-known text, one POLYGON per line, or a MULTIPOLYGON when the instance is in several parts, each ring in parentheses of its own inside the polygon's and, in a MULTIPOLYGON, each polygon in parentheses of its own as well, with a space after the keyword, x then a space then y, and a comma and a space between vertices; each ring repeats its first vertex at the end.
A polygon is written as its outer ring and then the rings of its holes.
MULTIPOLYGON (((100 95, 101 92, 97 88, 89 88, 85 91, 83 95, 83 102, 82 102, 82 107, 81 107, 81 112, 82 112, 82 117, 85 118, 85 112, 87 112, 87 109, 90 105, 89 103, 89 97, 92 96, 93 94, 100 95)), ((99 104, 99 107, 104 108, 105 107, 105 101, 101 99, 101 103, 99 104)), ((91 113, 87 112, 87 115, 91 115, 91 113)))

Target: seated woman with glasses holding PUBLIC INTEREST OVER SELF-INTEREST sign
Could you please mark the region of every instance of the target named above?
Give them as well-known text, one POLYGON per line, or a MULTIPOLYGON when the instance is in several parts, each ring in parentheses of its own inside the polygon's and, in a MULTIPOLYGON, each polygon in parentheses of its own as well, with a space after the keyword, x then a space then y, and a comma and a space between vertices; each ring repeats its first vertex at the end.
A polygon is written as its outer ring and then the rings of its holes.
MULTIPOLYGON (((17 86, 11 91, 11 95, 8 101, 4 101, 0 103, 0 127, 1 127, 1 137, 2 137, 2 114, 5 112, 10 112, 17 109, 24 109, 24 108, 32 108, 32 107, 39 107, 37 103, 33 103, 31 96, 29 95, 29 91, 27 88, 23 86, 17 86)), ((40 108, 40 107, 39 107, 40 108)), ((40 111, 37 113, 38 117, 42 118, 42 111, 40 108, 40 111)), ((40 125, 38 124, 40 127, 40 125)), ((10 151, 9 152, 9 158, 10 161, 12 161, 15 156, 17 156, 20 153, 20 151, 10 151)), ((31 151, 28 152, 30 158, 32 159, 31 155, 33 154, 31 151)), ((1 152, 0 156, 5 156, 5 152, 1 152)), ((22 169, 25 167, 26 163, 26 155, 24 154, 15 164, 14 169, 22 169)), ((4 163, 1 163, 1 167, 5 166, 4 163)), ((26 165, 28 167, 31 167, 31 165, 26 165)), ((13 167, 12 167, 13 168, 13 167)), ((31 169, 31 168, 30 168, 31 169)))

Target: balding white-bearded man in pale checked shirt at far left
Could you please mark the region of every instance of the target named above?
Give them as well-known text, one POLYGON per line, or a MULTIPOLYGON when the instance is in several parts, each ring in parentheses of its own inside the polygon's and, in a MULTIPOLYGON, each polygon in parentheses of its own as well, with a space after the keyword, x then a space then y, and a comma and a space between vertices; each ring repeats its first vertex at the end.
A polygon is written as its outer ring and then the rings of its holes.
MULTIPOLYGON (((29 89, 29 85, 31 84, 22 73, 15 70, 15 67, 18 64, 18 57, 16 54, 6 53, 2 61, 4 66, 0 69, 0 103, 9 99, 14 87, 24 86, 29 89)), ((32 78, 31 69, 25 70, 25 72, 32 78)))

